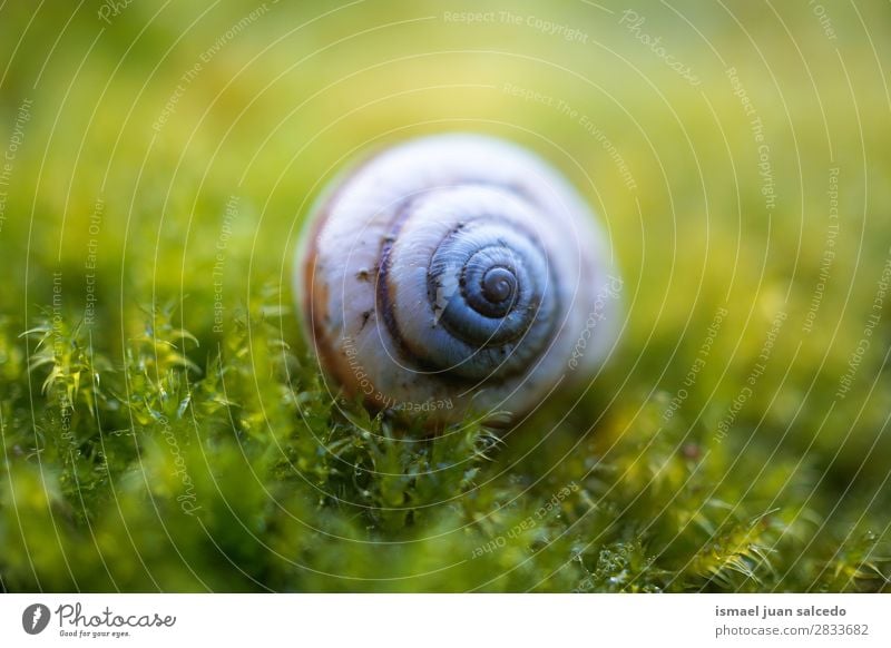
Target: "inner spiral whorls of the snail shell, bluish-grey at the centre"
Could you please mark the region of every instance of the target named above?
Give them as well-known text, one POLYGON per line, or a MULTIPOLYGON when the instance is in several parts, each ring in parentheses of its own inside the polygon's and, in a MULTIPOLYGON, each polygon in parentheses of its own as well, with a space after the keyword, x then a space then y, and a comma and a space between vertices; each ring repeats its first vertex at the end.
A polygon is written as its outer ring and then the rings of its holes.
POLYGON ((473 381, 522 371, 558 311, 547 252, 523 225, 535 214, 503 189, 474 185, 431 192, 407 209, 378 283, 393 338, 422 371, 473 381))

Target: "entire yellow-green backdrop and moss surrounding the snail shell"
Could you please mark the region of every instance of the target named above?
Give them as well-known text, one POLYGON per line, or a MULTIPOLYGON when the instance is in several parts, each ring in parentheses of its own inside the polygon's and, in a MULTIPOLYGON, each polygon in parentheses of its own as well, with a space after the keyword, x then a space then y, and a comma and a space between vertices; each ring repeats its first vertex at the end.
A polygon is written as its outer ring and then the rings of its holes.
POLYGON ((0 4, 0 590, 888 589, 889 43, 866 1, 0 4), (500 436, 340 403, 291 293, 324 184, 449 130, 560 168, 625 279, 500 436))

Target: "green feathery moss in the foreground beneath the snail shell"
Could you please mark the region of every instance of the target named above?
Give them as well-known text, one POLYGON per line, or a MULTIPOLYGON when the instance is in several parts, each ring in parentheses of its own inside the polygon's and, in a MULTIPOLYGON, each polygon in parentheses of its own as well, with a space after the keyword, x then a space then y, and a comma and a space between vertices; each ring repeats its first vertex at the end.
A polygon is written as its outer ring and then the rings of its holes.
MULTIPOLYGON (((820 517, 814 470, 663 424, 665 395, 631 430, 615 412, 542 440, 549 410, 517 443, 479 425, 430 438, 332 400, 270 308, 206 341, 204 370, 169 308, 140 312, 119 367, 82 326, 31 330, 39 399, 4 401, 7 588, 887 587, 879 539, 820 517), (30 414, 33 430, 10 425, 30 414)), ((3 345, 23 366, 25 338, 3 345)))

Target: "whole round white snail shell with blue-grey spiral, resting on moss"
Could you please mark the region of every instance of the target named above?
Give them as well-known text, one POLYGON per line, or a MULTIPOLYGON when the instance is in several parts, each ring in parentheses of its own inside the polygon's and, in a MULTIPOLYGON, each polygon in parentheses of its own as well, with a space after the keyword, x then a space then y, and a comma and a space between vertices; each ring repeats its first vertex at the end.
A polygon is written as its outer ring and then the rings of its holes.
POLYGON ((620 287, 568 181, 471 134, 398 144, 335 179, 294 271, 326 373, 433 425, 510 421, 589 376, 617 340, 620 287))

